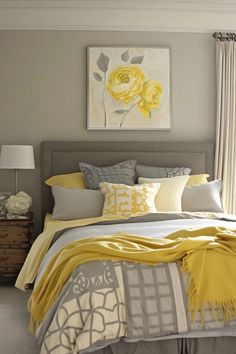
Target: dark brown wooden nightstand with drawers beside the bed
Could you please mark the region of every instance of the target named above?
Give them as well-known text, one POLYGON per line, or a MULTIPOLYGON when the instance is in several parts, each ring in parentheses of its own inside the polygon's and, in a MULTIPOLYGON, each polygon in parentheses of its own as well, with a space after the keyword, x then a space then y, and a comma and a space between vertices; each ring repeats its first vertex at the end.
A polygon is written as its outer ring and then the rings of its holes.
POLYGON ((0 219, 0 283, 12 283, 30 248, 33 214, 27 219, 0 219))

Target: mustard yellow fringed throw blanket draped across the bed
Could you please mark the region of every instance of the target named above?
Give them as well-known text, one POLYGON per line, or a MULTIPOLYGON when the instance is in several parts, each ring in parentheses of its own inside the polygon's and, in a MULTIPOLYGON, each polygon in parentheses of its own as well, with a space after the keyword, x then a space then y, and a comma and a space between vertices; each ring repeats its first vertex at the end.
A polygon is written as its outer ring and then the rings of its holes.
POLYGON ((236 315, 236 230, 207 227, 180 230, 165 239, 129 234, 99 236, 70 243, 52 258, 29 301, 32 328, 55 302, 66 280, 80 264, 123 260, 154 265, 182 260, 189 272, 189 311, 202 314, 209 304, 220 320, 236 315))

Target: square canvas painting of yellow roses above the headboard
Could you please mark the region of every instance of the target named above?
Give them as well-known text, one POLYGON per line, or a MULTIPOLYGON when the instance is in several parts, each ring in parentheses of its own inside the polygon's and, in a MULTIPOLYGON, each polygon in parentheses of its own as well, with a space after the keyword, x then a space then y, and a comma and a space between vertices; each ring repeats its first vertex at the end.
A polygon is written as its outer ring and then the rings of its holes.
POLYGON ((87 128, 170 129, 168 48, 88 48, 87 128))

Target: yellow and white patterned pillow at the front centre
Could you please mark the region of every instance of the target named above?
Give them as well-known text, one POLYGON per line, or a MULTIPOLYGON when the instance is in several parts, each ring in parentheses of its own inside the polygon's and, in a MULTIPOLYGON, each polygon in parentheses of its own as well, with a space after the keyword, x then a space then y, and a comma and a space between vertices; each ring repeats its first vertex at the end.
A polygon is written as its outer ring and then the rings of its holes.
POLYGON ((151 183, 135 186, 100 183, 105 194, 102 215, 131 216, 142 213, 156 213, 155 197, 160 184, 151 183))

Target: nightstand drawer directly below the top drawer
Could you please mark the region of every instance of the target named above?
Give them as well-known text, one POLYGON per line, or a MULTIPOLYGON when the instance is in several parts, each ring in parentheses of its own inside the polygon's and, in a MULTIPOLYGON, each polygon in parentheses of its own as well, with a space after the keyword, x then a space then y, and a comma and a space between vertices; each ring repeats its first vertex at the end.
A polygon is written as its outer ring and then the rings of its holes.
POLYGON ((16 249, 0 249, 0 267, 2 266, 22 266, 27 252, 16 249))

